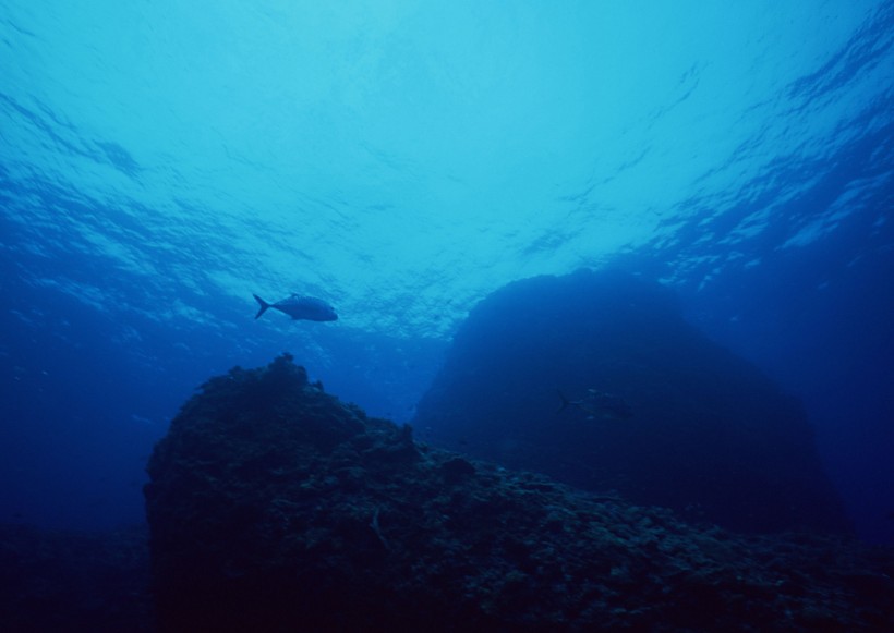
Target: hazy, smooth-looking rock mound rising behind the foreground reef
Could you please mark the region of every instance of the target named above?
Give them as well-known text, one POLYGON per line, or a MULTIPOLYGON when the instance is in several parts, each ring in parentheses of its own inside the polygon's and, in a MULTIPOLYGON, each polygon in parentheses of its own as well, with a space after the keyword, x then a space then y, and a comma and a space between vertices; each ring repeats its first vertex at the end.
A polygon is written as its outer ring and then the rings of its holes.
POLYGON ((685 322, 665 289, 623 273, 486 297, 413 424, 436 445, 732 529, 849 529, 800 404, 685 322))

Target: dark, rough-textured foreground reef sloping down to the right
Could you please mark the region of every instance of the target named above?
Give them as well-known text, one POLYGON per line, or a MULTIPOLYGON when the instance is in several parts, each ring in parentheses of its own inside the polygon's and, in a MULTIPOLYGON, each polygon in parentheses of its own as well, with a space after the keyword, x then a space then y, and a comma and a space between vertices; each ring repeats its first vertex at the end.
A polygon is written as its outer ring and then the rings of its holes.
POLYGON ((159 628, 883 631, 894 559, 737 536, 413 439, 282 355, 184 404, 148 465, 159 628))

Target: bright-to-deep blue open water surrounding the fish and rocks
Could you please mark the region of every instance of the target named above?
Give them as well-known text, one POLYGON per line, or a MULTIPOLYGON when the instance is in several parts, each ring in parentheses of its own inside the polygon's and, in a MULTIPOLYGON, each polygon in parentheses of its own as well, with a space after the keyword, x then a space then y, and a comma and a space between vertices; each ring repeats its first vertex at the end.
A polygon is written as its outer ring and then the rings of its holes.
POLYGON ((870 0, 3 0, 0 521, 141 521, 193 388, 283 350, 408 421, 475 302, 612 265, 800 397, 891 543, 893 45, 870 0))

